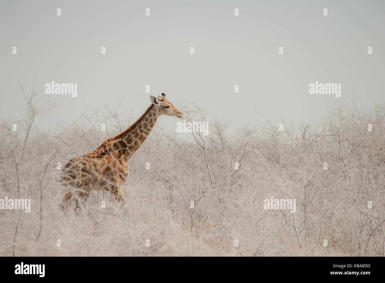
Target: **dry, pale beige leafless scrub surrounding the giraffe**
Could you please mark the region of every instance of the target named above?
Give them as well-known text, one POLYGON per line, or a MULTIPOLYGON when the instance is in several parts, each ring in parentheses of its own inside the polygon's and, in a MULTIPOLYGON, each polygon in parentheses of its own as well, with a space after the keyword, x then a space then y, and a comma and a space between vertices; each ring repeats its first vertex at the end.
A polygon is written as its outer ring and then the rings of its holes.
MULTIPOLYGON (((205 119, 191 104, 181 111, 205 119)), ((133 122, 104 114, 110 136, 133 122)), ((3 121, 0 132, 0 198, 32 205, 0 210, 1 256, 384 256, 383 105, 341 107, 301 132, 266 121, 233 136, 216 124, 208 136, 180 139, 155 126, 128 162, 127 203, 93 192, 78 216, 59 208, 57 162, 92 151, 106 132, 75 124, 49 136, 32 115, 26 131, 3 121), (296 199, 296 212, 264 209, 271 196, 296 199)))

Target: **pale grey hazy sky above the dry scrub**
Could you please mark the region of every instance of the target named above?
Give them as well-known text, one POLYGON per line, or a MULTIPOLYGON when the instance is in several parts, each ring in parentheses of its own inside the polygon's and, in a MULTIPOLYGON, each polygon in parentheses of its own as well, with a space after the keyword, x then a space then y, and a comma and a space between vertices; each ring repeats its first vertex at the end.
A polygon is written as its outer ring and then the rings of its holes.
MULTIPOLYGON (((357 106, 371 108, 384 94, 384 3, 2 0, 0 118, 25 117, 18 81, 27 92, 33 83, 41 90, 38 106, 57 104, 34 121, 45 132, 122 100, 121 114, 136 119, 149 95, 162 92, 174 105, 196 102, 208 122, 233 125, 264 123, 257 111, 277 125, 281 117, 296 126, 317 122, 351 104, 353 86, 357 106), (316 80, 340 83, 341 97, 309 94, 316 80), (77 97, 44 94, 51 81, 77 83, 77 97)), ((172 130, 177 121, 157 124, 172 130)))

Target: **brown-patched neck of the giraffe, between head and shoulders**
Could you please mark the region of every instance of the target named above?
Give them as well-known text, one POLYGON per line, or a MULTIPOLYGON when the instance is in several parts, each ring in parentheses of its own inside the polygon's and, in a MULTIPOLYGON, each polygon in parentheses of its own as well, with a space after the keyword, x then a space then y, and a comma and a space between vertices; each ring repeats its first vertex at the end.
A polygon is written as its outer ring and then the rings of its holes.
POLYGON ((122 141, 125 148, 123 155, 126 157, 126 160, 128 160, 146 140, 159 115, 158 107, 151 104, 151 106, 147 108, 146 112, 144 112, 144 114, 134 124, 132 124, 131 127, 115 137, 115 140, 118 139, 122 141))

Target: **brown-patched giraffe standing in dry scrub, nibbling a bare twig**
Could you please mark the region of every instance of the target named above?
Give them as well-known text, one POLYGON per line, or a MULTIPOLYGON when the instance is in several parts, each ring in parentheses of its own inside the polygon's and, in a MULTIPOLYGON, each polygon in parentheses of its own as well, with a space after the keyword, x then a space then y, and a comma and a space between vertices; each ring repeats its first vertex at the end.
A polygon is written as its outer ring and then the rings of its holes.
POLYGON ((126 131, 106 139, 95 151, 72 158, 63 167, 60 181, 67 191, 60 204, 62 209, 68 208, 72 200, 77 209, 79 201, 87 201, 90 191, 100 190, 110 191, 115 201, 125 203, 123 184, 129 176, 128 159, 146 140, 160 115, 183 117, 164 93, 158 98, 150 95, 150 99, 152 104, 126 131))

